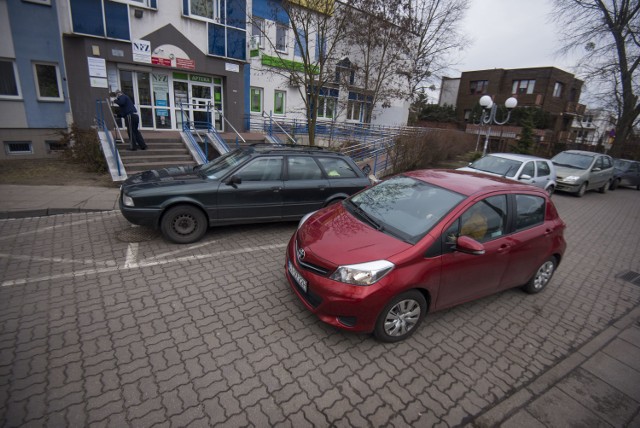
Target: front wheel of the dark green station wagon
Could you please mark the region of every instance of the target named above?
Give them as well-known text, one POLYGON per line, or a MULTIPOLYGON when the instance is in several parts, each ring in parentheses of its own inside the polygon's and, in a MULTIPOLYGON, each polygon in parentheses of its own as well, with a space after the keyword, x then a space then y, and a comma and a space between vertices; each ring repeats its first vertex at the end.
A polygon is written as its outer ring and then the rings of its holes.
POLYGON ((178 205, 162 216, 160 230, 171 242, 190 244, 200 240, 208 226, 207 218, 201 210, 190 205, 178 205))

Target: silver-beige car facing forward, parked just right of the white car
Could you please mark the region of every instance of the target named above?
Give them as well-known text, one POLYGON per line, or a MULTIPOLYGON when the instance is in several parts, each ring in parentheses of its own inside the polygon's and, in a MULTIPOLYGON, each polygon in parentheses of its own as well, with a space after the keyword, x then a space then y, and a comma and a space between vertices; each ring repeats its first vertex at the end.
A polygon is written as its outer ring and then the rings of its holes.
POLYGON ((558 188, 578 197, 587 190, 609 190, 613 181, 613 159, 601 153, 566 150, 551 158, 558 171, 558 188))

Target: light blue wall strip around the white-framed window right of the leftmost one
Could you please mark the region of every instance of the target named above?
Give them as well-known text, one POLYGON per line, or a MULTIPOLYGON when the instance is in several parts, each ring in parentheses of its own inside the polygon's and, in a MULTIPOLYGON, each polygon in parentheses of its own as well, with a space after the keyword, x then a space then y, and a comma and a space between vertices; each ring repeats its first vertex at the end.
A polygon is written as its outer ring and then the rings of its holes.
POLYGON ((66 73, 55 1, 51 0, 51 6, 29 2, 7 2, 16 65, 20 75, 20 88, 27 115, 27 125, 30 128, 67 127, 66 113, 70 111, 70 108, 67 88, 64 83, 66 73), (34 25, 34 23, 48 23, 48 25, 34 25), (64 95, 63 101, 38 100, 33 71, 34 62, 58 66, 61 76, 60 90, 64 95))

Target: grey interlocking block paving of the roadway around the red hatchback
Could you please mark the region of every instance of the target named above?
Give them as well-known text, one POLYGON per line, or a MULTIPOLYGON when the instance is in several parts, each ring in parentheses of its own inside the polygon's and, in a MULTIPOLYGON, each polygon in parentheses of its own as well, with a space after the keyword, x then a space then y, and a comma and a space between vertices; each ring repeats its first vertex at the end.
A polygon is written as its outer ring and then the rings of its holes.
POLYGON ((640 302, 640 192, 555 195, 545 292, 428 315, 387 345, 324 325, 284 279, 295 224, 127 243, 118 212, 0 221, 2 426, 459 426, 640 302))

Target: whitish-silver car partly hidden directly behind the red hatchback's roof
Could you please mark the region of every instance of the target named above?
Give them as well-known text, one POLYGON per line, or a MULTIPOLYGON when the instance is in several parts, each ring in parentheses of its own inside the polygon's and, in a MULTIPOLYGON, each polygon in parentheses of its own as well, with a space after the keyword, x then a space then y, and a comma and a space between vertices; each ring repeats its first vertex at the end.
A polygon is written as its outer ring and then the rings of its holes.
POLYGON ((515 153, 492 153, 458 168, 509 178, 540 187, 551 195, 556 188, 556 169, 549 159, 515 153))

